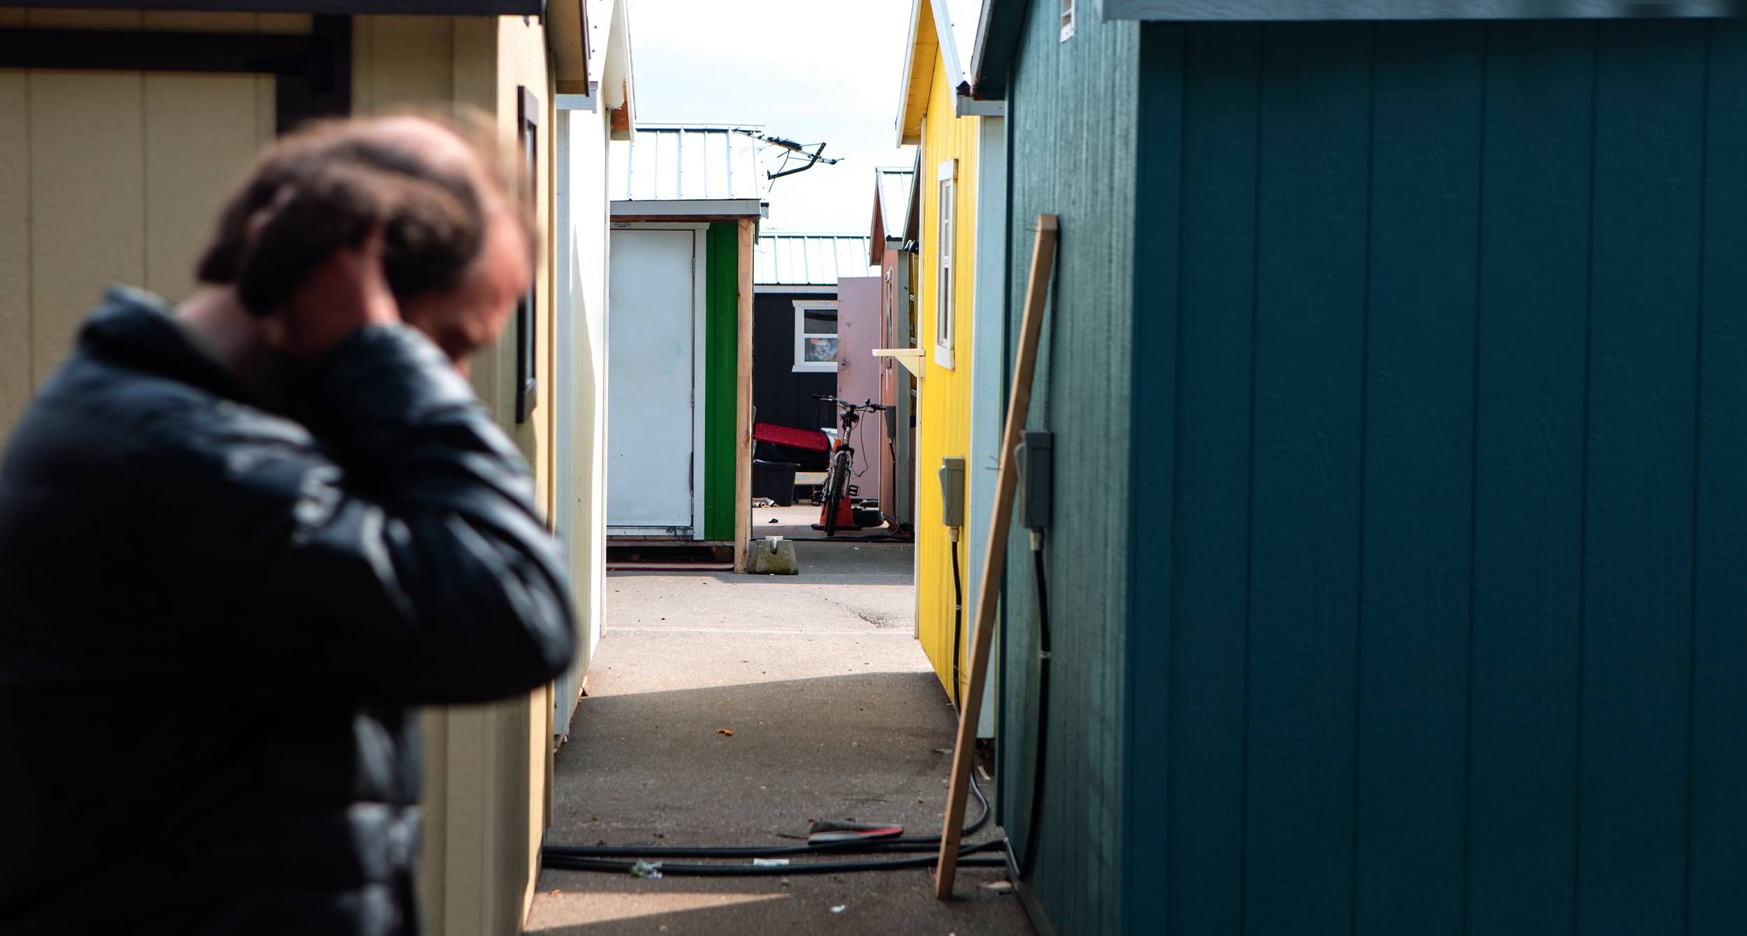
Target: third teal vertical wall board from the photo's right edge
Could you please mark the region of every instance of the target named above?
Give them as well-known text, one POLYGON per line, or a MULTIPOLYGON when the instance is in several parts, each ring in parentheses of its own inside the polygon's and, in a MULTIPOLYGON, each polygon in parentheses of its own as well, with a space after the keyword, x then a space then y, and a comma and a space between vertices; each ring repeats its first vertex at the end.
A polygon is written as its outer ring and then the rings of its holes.
POLYGON ((1593 23, 1487 33, 1471 933, 1572 926, 1593 56, 1593 23))

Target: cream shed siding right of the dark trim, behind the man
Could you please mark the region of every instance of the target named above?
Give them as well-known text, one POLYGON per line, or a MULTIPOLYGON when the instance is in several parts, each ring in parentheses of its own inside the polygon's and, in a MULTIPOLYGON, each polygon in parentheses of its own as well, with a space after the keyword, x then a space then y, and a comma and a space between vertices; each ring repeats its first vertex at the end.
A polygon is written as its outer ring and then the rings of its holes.
MULTIPOLYGON (((353 26, 353 108, 383 114, 407 107, 466 105, 496 119, 505 145, 515 141, 517 93, 540 98, 536 210, 550 231, 552 93, 545 33, 522 17, 362 16, 353 26)), ((550 246, 550 243, 547 244, 550 246)), ((540 253, 540 398, 529 421, 515 423, 515 341, 473 360, 473 389, 496 414, 535 470, 543 512, 552 496, 552 283, 540 253)), ((508 934, 521 929, 533 899, 540 833, 547 819, 552 739, 550 690, 493 705, 425 712, 425 845, 419 891, 433 934, 508 934)))

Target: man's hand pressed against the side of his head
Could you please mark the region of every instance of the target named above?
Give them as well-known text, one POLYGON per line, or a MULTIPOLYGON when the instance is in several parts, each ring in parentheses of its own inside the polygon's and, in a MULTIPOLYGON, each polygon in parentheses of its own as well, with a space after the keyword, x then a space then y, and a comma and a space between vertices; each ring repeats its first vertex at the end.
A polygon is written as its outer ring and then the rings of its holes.
POLYGON ((383 274, 383 229, 377 225, 356 246, 339 248, 316 264, 269 316, 267 328, 280 349, 311 361, 365 325, 397 321, 400 306, 383 274))

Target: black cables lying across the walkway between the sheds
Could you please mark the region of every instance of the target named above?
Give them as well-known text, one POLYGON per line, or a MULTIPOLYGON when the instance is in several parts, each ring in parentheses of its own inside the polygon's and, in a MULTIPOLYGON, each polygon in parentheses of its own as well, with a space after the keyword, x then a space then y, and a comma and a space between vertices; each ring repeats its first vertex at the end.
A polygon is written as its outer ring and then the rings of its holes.
MULTIPOLYGON (((982 803, 982 814, 964 828, 964 835, 975 835, 989 822, 989 798, 971 782, 971 793, 982 803)), ((977 852, 1006 849, 1006 838, 991 838, 959 849, 961 861, 968 868, 1003 868, 1006 857, 977 857, 977 852)), ((646 857, 781 857, 797 854, 887 854, 887 852, 935 852, 940 849, 940 836, 886 838, 872 842, 819 842, 807 845, 543 845, 540 849, 542 864, 564 871, 613 871, 629 873, 638 859, 646 857)), ((667 864, 662 863, 662 875, 678 877, 769 877, 769 875, 825 875, 839 871, 886 871, 896 868, 928 868, 938 856, 917 857, 879 857, 860 861, 811 861, 802 864, 667 864)))

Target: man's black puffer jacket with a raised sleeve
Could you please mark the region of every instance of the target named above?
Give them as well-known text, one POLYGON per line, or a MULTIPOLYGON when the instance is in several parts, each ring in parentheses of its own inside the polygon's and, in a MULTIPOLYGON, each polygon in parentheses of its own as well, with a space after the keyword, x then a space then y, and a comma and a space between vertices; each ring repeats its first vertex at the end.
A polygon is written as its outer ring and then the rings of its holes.
POLYGON ((0 933, 416 933, 412 705, 575 651, 526 465, 409 328, 245 402, 110 293, 0 471, 0 933))

